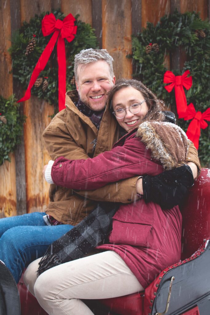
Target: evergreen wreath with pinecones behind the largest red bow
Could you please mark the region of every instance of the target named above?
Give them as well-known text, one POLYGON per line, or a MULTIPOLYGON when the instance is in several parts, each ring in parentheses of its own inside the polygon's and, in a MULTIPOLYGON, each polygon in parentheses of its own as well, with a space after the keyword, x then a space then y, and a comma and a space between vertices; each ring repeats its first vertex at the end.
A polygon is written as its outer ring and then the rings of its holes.
MULTIPOLYGON (((44 37, 42 34, 42 20, 49 12, 43 12, 41 15, 35 15, 30 23, 23 22, 23 26, 14 34, 12 45, 9 52, 12 56, 13 77, 26 89, 37 61, 49 42, 52 34, 44 37)), ((65 15, 56 10, 53 12, 56 19, 63 20, 65 15)), ((79 15, 75 16, 77 34, 72 42, 65 40, 66 48, 66 90, 76 88, 74 80, 74 56, 82 49, 97 48, 97 38, 94 29, 89 25, 78 20, 79 15)), ((47 100, 50 104, 58 103, 58 62, 56 58, 56 47, 52 52, 45 69, 40 73, 31 94, 40 99, 47 100)))

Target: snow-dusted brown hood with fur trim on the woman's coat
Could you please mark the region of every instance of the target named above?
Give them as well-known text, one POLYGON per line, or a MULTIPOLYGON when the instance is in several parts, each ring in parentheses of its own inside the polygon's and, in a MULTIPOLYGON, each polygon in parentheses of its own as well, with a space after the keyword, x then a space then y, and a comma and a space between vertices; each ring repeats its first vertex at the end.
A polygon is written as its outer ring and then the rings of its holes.
POLYGON ((151 156, 159 160, 164 169, 173 169, 185 163, 189 140, 177 125, 168 122, 144 122, 136 133, 151 156))

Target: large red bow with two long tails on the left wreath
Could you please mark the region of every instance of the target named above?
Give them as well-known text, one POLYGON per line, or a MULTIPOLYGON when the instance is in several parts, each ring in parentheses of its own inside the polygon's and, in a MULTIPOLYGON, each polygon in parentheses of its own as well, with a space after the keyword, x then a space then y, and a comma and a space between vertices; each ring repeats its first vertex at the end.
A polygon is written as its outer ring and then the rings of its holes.
POLYGON ((49 43, 45 47, 41 54, 34 71, 31 75, 31 79, 23 98, 18 102, 22 102, 30 99, 31 88, 37 80, 37 77, 41 71, 44 70, 48 59, 54 49, 56 41, 57 43, 57 57, 58 57, 58 101, 59 111, 65 108, 65 92, 66 92, 66 58, 65 58, 65 41, 71 42, 74 39, 74 35, 77 33, 77 26, 74 25, 76 19, 72 14, 68 14, 63 21, 56 20, 53 13, 45 15, 42 20, 42 32, 44 36, 48 36, 53 33, 49 43))

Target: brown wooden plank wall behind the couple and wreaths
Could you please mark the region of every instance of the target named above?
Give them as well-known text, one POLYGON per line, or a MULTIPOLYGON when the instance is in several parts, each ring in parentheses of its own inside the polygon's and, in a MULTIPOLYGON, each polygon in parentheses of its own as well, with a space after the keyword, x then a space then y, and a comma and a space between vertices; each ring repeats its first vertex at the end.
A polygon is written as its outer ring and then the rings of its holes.
MULTIPOLYGON (((181 13, 199 11, 201 18, 206 19, 210 15, 210 0, 0 0, 0 93, 4 97, 12 93, 17 98, 23 95, 9 74, 12 60, 7 50, 13 32, 34 14, 57 8, 65 15, 80 14, 82 21, 95 28, 99 48, 110 52, 115 60, 116 78, 119 78, 132 77, 132 60, 126 58, 131 53, 131 35, 138 34, 147 21, 156 23, 175 8, 181 13)), ((180 65, 179 51, 173 62, 180 65)), ((27 116, 22 143, 11 155, 11 163, 0 167, 0 217, 44 211, 48 203, 49 186, 42 179, 42 168, 49 157, 42 133, 54 108, 33 96, 21 106, 27 116)))

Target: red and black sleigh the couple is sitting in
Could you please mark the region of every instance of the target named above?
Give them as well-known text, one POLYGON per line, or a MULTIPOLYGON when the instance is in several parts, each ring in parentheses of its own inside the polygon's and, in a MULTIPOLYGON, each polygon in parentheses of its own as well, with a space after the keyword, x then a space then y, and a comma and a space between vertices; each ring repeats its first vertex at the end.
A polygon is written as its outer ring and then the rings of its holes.
MULTIPOLYGON (((210 169, 202 169, 199 179, 190 190, 182 214, 182 261, 163 270, 144 292, 112 299, 86 300, 85 302, 94 314, 209 314, 210 169)), ((37 300, 27 291, 22 280, 18 284, 20 301, 12 278, 10 284, 12 285, 9 288, 9 296, 8 284, 6 285, 1 280, 0 314, 47 315, 38 305, 37 300)))

